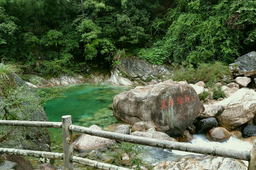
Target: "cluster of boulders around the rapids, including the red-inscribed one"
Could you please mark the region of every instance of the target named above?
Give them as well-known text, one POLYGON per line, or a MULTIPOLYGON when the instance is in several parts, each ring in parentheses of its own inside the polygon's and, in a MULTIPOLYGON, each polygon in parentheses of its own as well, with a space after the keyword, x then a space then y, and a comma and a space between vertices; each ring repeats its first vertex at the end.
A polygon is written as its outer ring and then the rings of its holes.
MULTIPOLYGON (((255 52, 245 55, 247 59, 248 57, 252 59, 253 56, 256 56, 255 52)), ((206 133, 207 139, 214 142, 224 142, 233 136, 252 144, 256 139, 256 92, 252 85, 256 71, 255 69, 253 71, 253 68, 246 70, 242 69, 242 66, 239 67, 239 64, 244 64, 240 58, 235 63, 230 65, 231 70, 235 68, 234 81, 227 85, 215 84, 215 88, 221 88, 225 94, 225 97, 217 100, 213 100, 214 89, 206 88, 202 81, 188 84, 186 81, 175 82, 171 79, 155 85, 137 86, 135 89, 118 94, 113 101, 113 115, 133 126, 119 125, 114 132, 179 142, 191 141, 193 139, 191 134, 206 133), (251 88, 247 88, 248 85, 251 88), (209 95, 199 100, 198 96, 204 92, 209 92, 209 95), (175 139, 170 137, 173 135, 176 136, 175 139), (177 135, 180 137, 177 138, 177 135)), ((248 66, 248 64, 244 65, 248 66)), ((253 67, 255 65, 253 64, 253 67)), ((74 148, 97 147, 88 145, 87 140, 91 140, 90 135, 82 136, 74 142, 74 148), (83 142, 79 143, 81 139, 83 142)), ((109 144, 109 141, 100 141, 101 139, 97 137, 96 141, 101 145, 109 144)), ((164 161, 156 165, 155 169, 176 166, 186 169, 187 166, 198 167, 198 163, 202 164, 200 167, 207 169, 206 166, 217 167, 220 162, 225 168, 232 165, 232 167, 236 166, 236 169, 246 169, 246 166, 236 159, 207 156, 207 159, 214 160, 210 161, 209 165, 206 165, 203 159, 164 161)))

